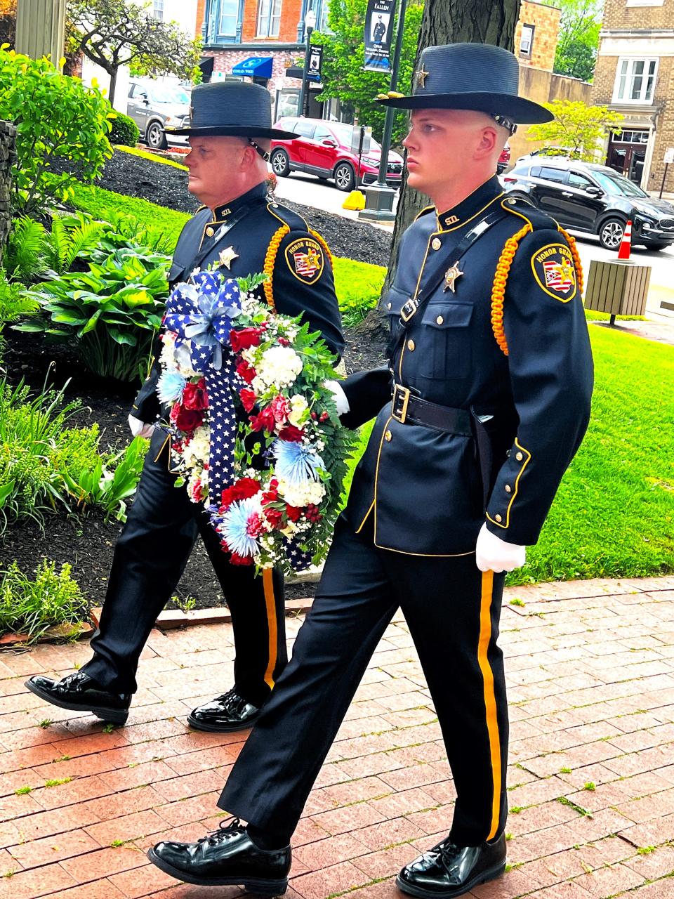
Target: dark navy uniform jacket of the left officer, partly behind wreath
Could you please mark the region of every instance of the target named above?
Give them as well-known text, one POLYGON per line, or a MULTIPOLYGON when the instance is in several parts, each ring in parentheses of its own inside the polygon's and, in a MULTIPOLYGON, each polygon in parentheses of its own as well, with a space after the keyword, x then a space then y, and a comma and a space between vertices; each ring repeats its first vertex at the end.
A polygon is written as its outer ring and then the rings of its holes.
MULTIPOLYGON (((283 315, 302 313, 310 329, 319 331, 330 350, 341 356, 344 339, 330 251, 304 218, 270 200, 263 183, 218 207, 215 214, 199 209, 186 223, 168 273, 170 288, 210 263, 220 263, 226 277, 267 273, 270 280, 256 291, 260 298, 283 315)), ((155 393, 160 374, 154 362, 134 403, 133 414, 143 422, 154 422, 161 414, 155 393)))

